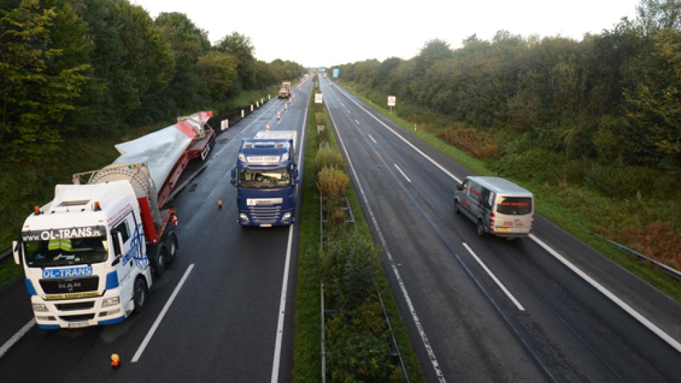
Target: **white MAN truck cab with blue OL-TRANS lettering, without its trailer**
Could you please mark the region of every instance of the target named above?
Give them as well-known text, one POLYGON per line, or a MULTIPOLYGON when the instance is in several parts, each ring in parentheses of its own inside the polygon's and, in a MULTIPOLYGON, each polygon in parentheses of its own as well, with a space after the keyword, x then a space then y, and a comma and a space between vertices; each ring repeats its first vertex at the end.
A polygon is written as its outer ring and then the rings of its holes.
POLYGON ((116 324, 142 309, 152 286, 149 252, 161 254, 162 272, 177 240, 169 226, 161 241, 146 243, 140 199, 127 180, 57 185, 55 198, 26 218, 12 249, 39 327, 116 324))

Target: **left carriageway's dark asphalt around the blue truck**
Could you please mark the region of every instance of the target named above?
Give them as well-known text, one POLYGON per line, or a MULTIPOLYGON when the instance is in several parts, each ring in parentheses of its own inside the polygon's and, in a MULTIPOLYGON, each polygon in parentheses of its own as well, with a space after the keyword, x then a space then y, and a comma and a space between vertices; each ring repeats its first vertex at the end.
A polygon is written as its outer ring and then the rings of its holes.
MULTIPOLYGON (((273 375, 290 381, 297 226, 289 232, 289 227, 238 225, 230 170, 241 138, 253 137, 267 123, 273 130, 297 130, 302 138, 311 85, 308 79, 293 87, 296 99, 287 110, 273 99, 218 136, 206 168, 174 198, 178 254, 154 282, 141 315, 115 326, 80 330, 33 326, 0 357, 0 381, 269 382, 273 375), (276 111, 282 112, 280 121, 276 111), (287 250, 289 274, 282 283, 287 250), (284 286, 287 304, 277 354, 284 286), (156 330, 140 351, 152 327, 156 330), (116 371, 109 366, 111 353, 122 359, 116 371), (137 362, 131 362, 136 353, 137 362)), ((302 150, 304 145, 298 145, 302 150)), ((194 162, 189 170, 200 166, 194 162)), ((0 345, 31 319, 29 303, 23 281, 0 295, 0 345)))

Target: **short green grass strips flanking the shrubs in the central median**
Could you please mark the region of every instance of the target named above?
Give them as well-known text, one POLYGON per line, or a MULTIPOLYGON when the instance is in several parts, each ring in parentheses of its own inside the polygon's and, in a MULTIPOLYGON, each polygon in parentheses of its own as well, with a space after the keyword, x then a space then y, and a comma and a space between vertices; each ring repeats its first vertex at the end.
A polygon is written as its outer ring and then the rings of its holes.
MULTIPOLYGON (((311 95, 307 123, 307 142, 305 146, 305 171, 303 178, 303 207, 301 212, 300 255, 298 263, 298 290, 296 292, 296 342, 293 363, 293 380, 295 382, 318 382, 321 377, 321 317, 320 317, 320 210, 319 193, 316 188, 314 158, 318 151, 316 146, 317 131, 315 119, 314 95, 311 95)), ((327 129, 334 129, 325 108, 323 120, 327 129)), ((334 129, 335 130, 335 129, 334 129)), ((340 153, 336 136, 328 135, 329 144, 340 153)), ((369 225, 363 216, 363 209, 352 185, 346 189, 347 199, 356 220, 355 226, 365 238, 372 238, 369 225)), ((382 269, 382 268, 381 268, 382 269)), ((384 270, 382 270, 384 271, 384 270)), ((424 382, 425 378, 392 295, 390 283, 384 272, 376 273, 376 284, 390 318, 390 324, 397 341, 399 351, 406 366, 410 382, 424 382)))

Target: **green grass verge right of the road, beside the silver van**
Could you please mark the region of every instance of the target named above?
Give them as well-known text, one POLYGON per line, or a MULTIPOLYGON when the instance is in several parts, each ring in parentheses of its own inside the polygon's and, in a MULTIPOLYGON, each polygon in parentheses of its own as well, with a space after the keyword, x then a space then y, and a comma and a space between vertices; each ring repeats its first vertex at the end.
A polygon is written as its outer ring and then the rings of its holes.
MULTIPOLYGON (((399 116, 399 109, 390 110, 375 100, 382 100, 383 95, 376 91, 365 91, 361 86, 351 82, 338 81, 346 91, 350 91, 363 102, 371 106, 377 112, 383 114, 400 127, 413 133, 415 136, 435 147, 453 160, 456 160, 474 174, 484 176, 499 176, 493 171, 485 160, 475 158, 468 153, 453 147, 437 137, 436 133, 423 129, 425 124, 417 124, 399 116)), ((453 124, 453 122, 450 122, 453 124)), ((608 256, 622 267, 626 268, 637 277, 650 283, 669 297, 681 302, 681 283, 669 277, 662 270, 647 261, 642 261, 637 256, 613 247, 592 232, 621 230, 630 225, 645 226, 655 219, 666 216, 669 212, 679 212, 678 206, 670 206, 669 203, 660 200, 637 200, 635 196, 623 200, 603 195, 593 188, 584 187, 576 183, 561 181, 559 183, 547 183, 541 181, 520 180, 512 176, 502 175, 514 183, 531 190, 536 196, 536 211, 547 220, 569 232, 580 241, 593 247, 601 254, 608 256), (623 209, 623 207, 625 207, 623 209), (630 212, 636 211, 636 214, 630 212)), ((673 218, 673 217, 672 217, 673 218)), ((676 217, 678 219, 678 217, 676 217)))

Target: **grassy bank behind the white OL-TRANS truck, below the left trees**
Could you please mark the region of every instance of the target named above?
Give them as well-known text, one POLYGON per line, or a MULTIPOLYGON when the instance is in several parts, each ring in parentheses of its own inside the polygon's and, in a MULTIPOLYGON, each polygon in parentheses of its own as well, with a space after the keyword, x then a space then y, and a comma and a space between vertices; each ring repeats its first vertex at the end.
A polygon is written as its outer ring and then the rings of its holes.
MULTIPOLYGON (((251 104, 260 100, 263 95, 266 99, 268 93, 276 94, 273 93, 276 88, 269 86, 262 90, 243 91, 228 100, 225 107, 235 109, 251 104)), ((109 165, 119 155, 114 144, 133 140, 174 122, 176 120, 173 117, 125 131, 102 133, 96 138, 67 138, 62 144, 65 149, 55 153, 49 162, 39 167, 0 161, 0 216, 3 217, 3 225, 0 226, 0 253, 8 250, 12 240, 17 238, 24 220, 33 212, 33 206, 42 206, 53 198, 55 185, 71 184, 74 173, 109 165)), ((16 265, 12 259, 1 263, 0 291, 21 274, 21 266, 16 265)))

